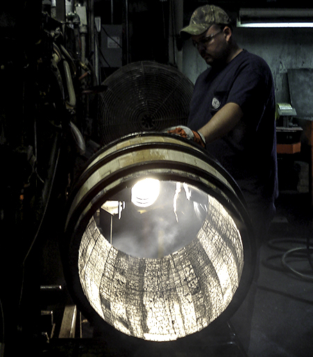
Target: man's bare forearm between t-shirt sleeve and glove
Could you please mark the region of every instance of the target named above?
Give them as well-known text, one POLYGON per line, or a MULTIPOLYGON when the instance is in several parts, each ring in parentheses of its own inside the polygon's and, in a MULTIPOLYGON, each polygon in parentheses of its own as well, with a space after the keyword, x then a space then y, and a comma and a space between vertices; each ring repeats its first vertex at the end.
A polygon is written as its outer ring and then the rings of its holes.
POLYGON ((206 143, 211 143, 224 137, 232 128, 235 128, 243 115, 244 113, 239 105, 227 103, 198 132, 203 134, 206 143))

